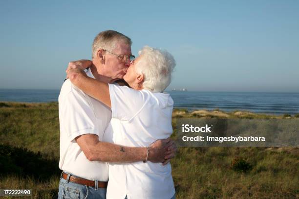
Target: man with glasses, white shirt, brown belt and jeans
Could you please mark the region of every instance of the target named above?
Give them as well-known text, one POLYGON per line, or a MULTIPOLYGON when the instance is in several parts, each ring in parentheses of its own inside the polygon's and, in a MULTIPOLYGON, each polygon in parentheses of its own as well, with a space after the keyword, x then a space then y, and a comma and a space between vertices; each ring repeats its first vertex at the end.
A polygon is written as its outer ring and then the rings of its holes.
MULTIPOLYGON (((126 74, 131 55, 131 40, 116 31, 99 33, 92 45, 92 63, 86 74, 107 83, 126 74)), ((129 100, 129 99, 128 99, 129 100)), ((60 198, 106 198, 107 162, 165 162, 174 156, 169 139, 157 140, 149 147, 126 147, 109 143, 105 134, 111 110, 87 96, 66 80, 59 95, 60 198)), ((117 191, 117 190, 115 190, 117 191)))

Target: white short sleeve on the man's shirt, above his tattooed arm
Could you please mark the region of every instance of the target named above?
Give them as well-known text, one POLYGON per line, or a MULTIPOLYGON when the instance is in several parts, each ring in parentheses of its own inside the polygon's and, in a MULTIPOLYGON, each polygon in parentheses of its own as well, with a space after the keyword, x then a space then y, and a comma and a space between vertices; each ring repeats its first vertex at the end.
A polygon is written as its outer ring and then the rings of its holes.
POLYGON ((59 103, 61 128, 67 133, 70 141, 84 134, 99 136, 96 117, 87 96, 81 91, 72 89, 64 95, 59 103))

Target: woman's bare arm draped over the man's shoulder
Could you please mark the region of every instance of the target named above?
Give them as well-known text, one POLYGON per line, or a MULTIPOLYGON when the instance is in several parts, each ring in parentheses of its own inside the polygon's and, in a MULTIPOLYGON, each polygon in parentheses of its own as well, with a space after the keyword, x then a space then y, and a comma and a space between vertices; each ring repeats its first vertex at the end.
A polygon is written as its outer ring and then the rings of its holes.
POLYGON ((107 83, 87 77, 86 73, 78 68, 69 69, 66 73, 75 86, 111 108, 109 86, 107 83))

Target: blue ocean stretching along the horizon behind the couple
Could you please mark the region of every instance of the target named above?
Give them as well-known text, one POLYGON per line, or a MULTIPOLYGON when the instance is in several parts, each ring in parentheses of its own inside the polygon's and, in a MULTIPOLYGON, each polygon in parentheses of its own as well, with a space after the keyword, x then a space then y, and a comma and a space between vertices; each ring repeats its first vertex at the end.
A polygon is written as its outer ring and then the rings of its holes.
MULTIPOLYGON (((0 101, 58 101, 59 90, 0 89, 0 101)), ((273 115, 299 113, 299 93, 169 91, 175 108, 251 111, 273 115)))

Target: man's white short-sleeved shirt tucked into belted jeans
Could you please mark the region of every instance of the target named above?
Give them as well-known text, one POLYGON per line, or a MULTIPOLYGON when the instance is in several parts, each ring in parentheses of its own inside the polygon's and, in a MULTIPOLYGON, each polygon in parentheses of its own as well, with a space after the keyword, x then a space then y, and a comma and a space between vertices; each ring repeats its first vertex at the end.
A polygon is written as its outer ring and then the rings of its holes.
MULTIPOLYGON (((94 78, 90 69, 87 76, 94 78)), ((95 100, 70 80, 64 81, 59 101, 60 160, 59 168, 65 172, 90 180, 108 181, 107 162, 89 161, 75 138, 95 134, 103 140, 104 131, 111 119, 111 110, 95 100)))

